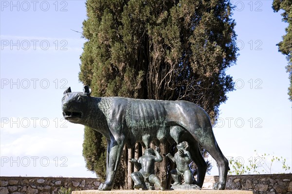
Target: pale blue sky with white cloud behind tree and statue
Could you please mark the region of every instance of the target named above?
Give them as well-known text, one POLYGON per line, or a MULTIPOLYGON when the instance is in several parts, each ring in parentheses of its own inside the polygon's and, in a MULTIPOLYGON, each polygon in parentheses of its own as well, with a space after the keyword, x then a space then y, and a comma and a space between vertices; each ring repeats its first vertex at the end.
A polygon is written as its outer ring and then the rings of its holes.
MULTIPOLYGON (((219 107, 216 140, 226 158, 244 165, 252 159, 260 168, 258 156, 271 154, 292 167, 289 75, 276 46, 287 23, 272 0, 231 2, 239 56, 226 74, 236 90, 219 107)), ((83 89, 84 19, 85 0, 0 0, 0 176, 95 177, 82 156, 84 126, 65 121, 61 110, 66 88, 83 89)), ((279 172, 274 162, 271 173, 279 172)))

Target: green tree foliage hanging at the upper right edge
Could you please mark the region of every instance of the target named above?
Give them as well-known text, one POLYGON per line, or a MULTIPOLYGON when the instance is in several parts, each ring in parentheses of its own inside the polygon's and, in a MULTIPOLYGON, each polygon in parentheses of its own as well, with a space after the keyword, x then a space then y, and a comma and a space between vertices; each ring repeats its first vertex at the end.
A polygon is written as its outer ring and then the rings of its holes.
POLYGON ((289 25, 285 28, 286 35, 282 36, 282 41, 279 42, 278 49, 279 52, 287 55, 288 66, 286 66, 287 72, 289 72, 290 79, 290 87, 288 88, 289 99, 292 101, 292 1, 291 0, 274 0, 272 6, 274 12, 278 12, 280 10, 283 11, 281 14, 282 21, 287 22, 289 25))

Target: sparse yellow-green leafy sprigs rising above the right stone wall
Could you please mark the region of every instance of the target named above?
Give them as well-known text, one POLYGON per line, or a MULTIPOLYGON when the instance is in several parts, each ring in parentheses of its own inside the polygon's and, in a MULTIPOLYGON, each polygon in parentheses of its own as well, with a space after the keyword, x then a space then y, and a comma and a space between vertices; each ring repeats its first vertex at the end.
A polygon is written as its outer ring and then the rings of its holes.
MULTIPOLYGON (((259 156, 255 150, 256 157, 251 157, 249 165, 244 166, 244 160, 241 158, 229 159, 229 164, 232 167, 229 171, 229 175, 243 175, 243 174, 272 174, 272 166, 274 162, 280 162, 284 172, 291 173, 290 166, 286 164, 286 159, 283 157, 277 157, 270 154, 262 154, 259 156)), ((278 172, 281 174, 281 172, 278 172)))

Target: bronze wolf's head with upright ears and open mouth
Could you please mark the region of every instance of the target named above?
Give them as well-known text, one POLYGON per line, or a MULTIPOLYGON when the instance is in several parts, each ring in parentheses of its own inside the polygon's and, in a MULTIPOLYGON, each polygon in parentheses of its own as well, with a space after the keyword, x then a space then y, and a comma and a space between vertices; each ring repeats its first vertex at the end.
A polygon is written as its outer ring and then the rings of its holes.
POLYGON ((84 86, 83 92, 71 92, 69 87, 63 94, 62 110, 64 118, 71 123, 83 123, 89 110, 91 88, 84 86))

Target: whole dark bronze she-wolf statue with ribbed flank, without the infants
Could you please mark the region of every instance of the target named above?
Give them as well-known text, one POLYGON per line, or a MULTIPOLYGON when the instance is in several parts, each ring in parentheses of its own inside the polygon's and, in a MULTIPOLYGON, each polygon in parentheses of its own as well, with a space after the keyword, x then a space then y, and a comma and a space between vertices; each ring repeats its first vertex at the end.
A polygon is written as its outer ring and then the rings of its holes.
POLYGON ((198 166, 195 184, 202 187, 207 164, 201 156, 200 143, 217 161, 219 182, 214 189, 225 189, 228 160, 215 140, 209 116, 200 106, 187 101, 98 98, 90 93, 88 86, 83 92, 71 92, 69 87, 64 91, 62 110, 66 120, 89 126, 108 141, 107 178, 99 190, 111 190, 125 144, 134 147, 136 142, 142 142, 149 147, 151 141, 155 145, 188 141, 189 152, 198 166))

